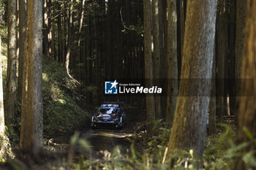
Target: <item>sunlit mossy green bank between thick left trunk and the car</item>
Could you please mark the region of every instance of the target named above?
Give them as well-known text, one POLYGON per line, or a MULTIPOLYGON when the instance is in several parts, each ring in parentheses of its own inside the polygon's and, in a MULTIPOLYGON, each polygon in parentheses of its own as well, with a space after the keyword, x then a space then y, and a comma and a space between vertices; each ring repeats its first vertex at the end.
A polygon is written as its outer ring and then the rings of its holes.
POLYGON ((61 64, 43 59, 42 93, 44 134, 72 133, 89 121, 89 114, 78 98, 78 85, 70 80, 61 64))

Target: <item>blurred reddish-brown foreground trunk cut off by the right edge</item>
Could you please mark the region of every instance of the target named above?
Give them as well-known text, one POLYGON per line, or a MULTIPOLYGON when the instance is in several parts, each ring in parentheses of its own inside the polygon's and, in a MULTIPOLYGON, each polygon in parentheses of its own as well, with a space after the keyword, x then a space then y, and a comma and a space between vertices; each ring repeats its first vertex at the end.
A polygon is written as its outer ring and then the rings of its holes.
MULTIPOLYGON (((250 81, 241 81, 241 94, 250 95, 240 98, 238 109, 238 144, 247 142, 249 145, 241 150, 241 156, 256 149, 256 1, 247 1, 246 8, 246 31, 243 51, 242 77, 250 81), (252 95, 252 96, 251 96, 252 95), (249 136, 248 134, 251 134, 249 136)), ((255 156, 255 152, 253 152, 255 156)), ((244 158, 237 158, 234 169, 255 169, 245 166, 244 158)))

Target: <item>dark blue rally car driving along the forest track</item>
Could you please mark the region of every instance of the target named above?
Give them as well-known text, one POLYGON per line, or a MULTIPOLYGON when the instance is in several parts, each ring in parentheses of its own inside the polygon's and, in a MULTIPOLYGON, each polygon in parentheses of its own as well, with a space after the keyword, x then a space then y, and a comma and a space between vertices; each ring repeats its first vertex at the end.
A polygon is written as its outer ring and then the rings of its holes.
POLYGON ((91 117, 91 128, 97 128, 99 125, 114 125, 116 128, 123 128, 127 120, 123 105, 123 102, 113 101, 102 104, 91 117))

